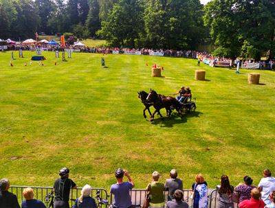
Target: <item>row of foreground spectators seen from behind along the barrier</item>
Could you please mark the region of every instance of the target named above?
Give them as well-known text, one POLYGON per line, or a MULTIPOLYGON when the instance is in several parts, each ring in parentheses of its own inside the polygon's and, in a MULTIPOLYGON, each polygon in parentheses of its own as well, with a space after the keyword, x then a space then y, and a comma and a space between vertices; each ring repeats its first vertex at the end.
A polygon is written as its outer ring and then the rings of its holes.
MULTIPOLYGON (((60 170, 60 178, 54 183, 54 208, 69 208, 69 194, 71 189, 76 189, 76 183, 69 178, 69 169, 63 167, 60 170)), ((115 170, 117 183, 111 185, 110 193, 113 194, 113 204, 111 208, 131 208, 130 191, 135 187, 133 179, 127 170, 115 170), (124 181, 124 177, 128 181, 124 181)), ((188 203, 183 198, 183 183, 181 178, 177 178, 175 169, 170 171, 170 178, 164 183, 159 182, 159 173, 152 174, 152 181, 148 183, 146 191, 149 200, 144 200, 142 208, 164 208, 164 191, 168 191, 168 208, 188 208, 188 203), (146 203, 148 202, 148 203, 146 203)), ((252 178, 245 176, 243 182, 235 188, 230 185, 228 176, 223 175, 220 184, 217 185, 218 208, 234 208, 234 203, 239 204, 239 208, 275 208, 275 178, 270 170, 263 170, 263 178, 256 187, 252 185, 252 178)), ((20 208, 17 196, 8 191, 10 182, 7 178, 0 181, 0 208, 20 208)), ((81 196, 76 199, 73 208, 96 208, 94 198, 91 198, 91 186, 85 185, 81 191, 81 196)), ((34 199, 32 188, 23 190, 22 208, 45 208, 40 200, 34 199)), ((192 203, 194 208, 208 207, 208 183, 202 174, 195 176, 195 183, 192 184, 192 203)))

